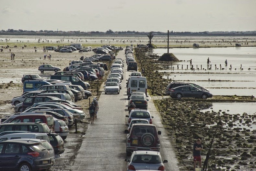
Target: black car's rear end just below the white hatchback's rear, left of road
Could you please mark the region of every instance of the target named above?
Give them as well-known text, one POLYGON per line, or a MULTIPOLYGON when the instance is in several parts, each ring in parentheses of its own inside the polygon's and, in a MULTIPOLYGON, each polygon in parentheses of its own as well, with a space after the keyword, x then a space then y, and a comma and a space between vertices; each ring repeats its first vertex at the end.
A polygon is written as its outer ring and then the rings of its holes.
POLYGON ((50 133, 50 132, 45 132, 45 133, 47 133, 49 137, 50 144, 54 149, 54 154, 62 154, 65 151, 65 148, 64 148, 64 141, 61 138, 61 136, 56 133, 50 133))

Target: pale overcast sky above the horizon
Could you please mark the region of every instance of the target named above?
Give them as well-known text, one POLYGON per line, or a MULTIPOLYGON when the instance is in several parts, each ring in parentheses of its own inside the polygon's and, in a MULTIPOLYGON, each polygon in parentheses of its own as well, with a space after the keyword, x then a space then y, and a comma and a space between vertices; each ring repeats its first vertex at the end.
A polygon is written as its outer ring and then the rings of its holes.
POLYGON ((2 0, 0 10, 0 30, 256 30, 256 0, 2 0))

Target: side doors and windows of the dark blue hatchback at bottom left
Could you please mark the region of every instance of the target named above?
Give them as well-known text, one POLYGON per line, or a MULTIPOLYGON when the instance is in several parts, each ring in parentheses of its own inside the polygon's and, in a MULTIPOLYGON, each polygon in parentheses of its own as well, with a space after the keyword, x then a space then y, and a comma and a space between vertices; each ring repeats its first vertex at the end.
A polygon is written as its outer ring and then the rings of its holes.
POLYGON ((1 153, 0 168, 2 169, 18 168, 17 164, 21 157, 20 145, 16 143, 4 143, 4 144, 5 144, 4 148, 2 147, 3 149, 1 153))

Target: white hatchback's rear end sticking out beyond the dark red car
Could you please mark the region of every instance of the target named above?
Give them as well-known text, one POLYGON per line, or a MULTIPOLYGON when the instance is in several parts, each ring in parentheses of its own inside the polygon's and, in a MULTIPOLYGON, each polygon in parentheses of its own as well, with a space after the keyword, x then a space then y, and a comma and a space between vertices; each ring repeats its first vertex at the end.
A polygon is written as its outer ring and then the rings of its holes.
POLYGON ((65 140, 69 134, 68 126, 63 120, 54 119, 54 132, 58 133, 63 140, 65 140))

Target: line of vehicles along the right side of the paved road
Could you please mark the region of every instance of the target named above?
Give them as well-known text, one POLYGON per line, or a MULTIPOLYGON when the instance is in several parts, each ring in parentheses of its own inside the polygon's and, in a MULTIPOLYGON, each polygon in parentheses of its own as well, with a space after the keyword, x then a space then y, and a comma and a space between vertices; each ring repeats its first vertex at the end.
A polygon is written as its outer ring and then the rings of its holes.
POLYGON ((161 131, 153 124, 153 116, 147 109, 147 80, 136 68, 130 69, 129 63, 136 63, 133 58, 133 48, 127 46, 126 63, 127 71, 134 70, 126 80, 129 115, 127 117, 126 158, 127 170, 165 170, 160 154, 161 131), (134 108, 134 105, 136 108, 134 108))

